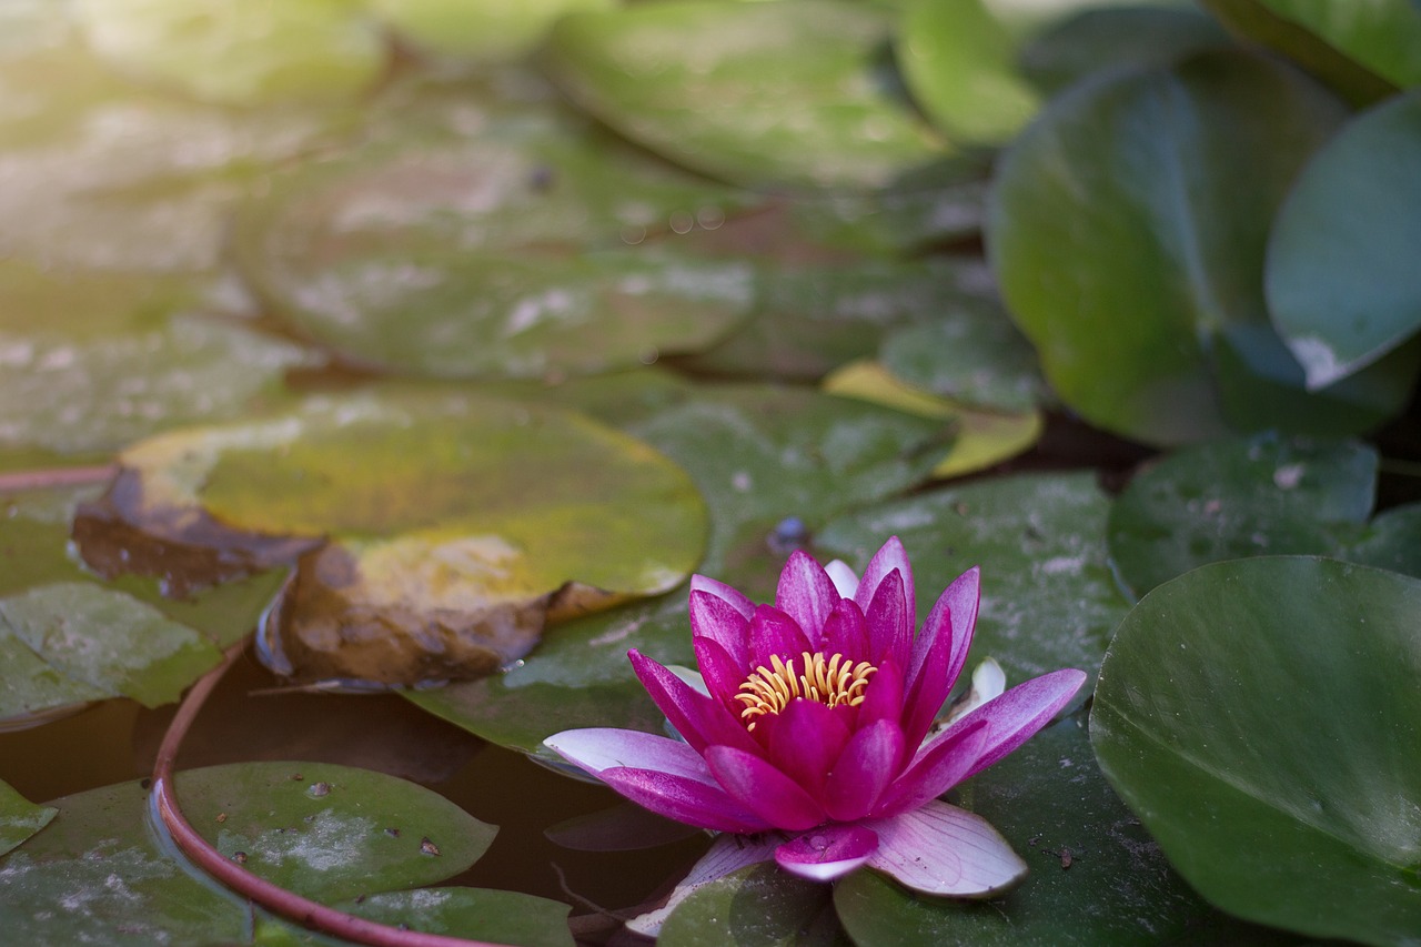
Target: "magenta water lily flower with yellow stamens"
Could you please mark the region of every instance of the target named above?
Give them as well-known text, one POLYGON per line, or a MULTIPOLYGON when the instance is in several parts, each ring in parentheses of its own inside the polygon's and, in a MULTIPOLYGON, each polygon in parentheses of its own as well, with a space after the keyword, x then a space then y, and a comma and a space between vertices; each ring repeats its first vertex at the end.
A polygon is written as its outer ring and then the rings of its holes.
POLYGON ((810 879, 868 865, 919 892, 990 894, 1026 865, 980 816, 938 796, 1016 749, 1086 675, 1037 677, 924 742, 962 671, 976 611, 972 569, 915 636, 912 570, 897 539, 863 580, 793 553, 773 607, 696 576, 691 628, 709 694, 630 654, 685 742, 597 728, 547 745, 654 812, 733 833, 688 882, 773 853, 810 879))

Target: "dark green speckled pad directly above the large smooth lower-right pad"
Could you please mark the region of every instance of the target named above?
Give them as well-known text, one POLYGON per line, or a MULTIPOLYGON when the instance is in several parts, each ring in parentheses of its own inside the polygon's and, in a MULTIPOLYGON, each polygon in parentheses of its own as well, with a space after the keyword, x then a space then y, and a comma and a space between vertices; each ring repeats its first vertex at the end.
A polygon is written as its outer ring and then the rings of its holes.
POLYGON ((1260 437, 1179 451, 1110 510, 1110 556, 1138 597, 1222 559, 1316 555, 1421 576, 1421 505, 1370 525, 1377 454, 1356 442, 1260 437))

